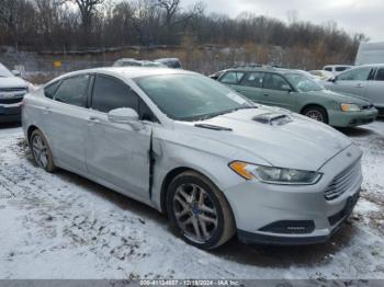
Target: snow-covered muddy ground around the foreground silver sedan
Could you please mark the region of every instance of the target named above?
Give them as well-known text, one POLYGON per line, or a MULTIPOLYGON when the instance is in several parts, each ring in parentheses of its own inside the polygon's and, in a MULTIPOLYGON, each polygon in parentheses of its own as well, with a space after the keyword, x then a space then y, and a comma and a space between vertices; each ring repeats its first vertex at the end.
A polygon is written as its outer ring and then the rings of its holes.
POLYGON ((203 252, 151 208, 66 171, 36 169, 0 128, 0 278, 384 278, 384 122, 341 130, 364 150, 362 199, 328 243, 203 252))

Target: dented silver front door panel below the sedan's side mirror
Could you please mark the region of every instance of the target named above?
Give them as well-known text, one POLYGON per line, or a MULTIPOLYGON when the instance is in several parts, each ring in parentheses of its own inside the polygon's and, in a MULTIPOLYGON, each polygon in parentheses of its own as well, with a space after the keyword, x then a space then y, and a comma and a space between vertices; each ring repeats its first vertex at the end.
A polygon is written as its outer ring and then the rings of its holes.
POLYGON ((86 158, 88 172, 120 187, 123 193, 149 198, 149 148, 151 126, 135 129, 111 123, 94 112, 88 124, 86 158))

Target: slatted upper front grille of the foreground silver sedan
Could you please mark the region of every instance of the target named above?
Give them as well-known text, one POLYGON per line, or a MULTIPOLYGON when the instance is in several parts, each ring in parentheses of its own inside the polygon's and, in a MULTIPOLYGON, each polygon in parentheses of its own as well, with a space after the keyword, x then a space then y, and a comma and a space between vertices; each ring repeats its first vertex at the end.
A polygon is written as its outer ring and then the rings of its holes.
POLYGON ((347 170, 345 170, 334 179, 331 184, 325 191, 324 197, 327 200, 332 200, 339 197, 349 188, 351 188, 352 185, 355 183, 355 180, 360 176, 361 165, 360 160, 358 160, 351 167, 349 167, 347 170))

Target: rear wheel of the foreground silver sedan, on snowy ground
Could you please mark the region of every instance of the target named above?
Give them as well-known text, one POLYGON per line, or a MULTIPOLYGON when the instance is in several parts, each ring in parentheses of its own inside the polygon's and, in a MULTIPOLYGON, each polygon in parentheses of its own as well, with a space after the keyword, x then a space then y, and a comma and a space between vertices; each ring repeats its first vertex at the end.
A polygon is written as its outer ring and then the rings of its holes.
POLYGON ((39 168, 47 172, 53 172, 56 169, 48 141, 38 129, 35 129, 31 135, 30 148, 33 159, 39 168))

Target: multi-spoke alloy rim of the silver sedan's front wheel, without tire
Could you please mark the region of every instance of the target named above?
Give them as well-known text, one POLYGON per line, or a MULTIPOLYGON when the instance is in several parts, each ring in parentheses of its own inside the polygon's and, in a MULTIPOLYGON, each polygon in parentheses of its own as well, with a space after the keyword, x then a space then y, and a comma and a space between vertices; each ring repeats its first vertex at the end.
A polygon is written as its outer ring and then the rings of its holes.
POLYGON ((179 227, 191 241, 204 243, 217 229, 218 216, 214 203, 196 184, 182 184, 177 188, 173 210, 179 227))

